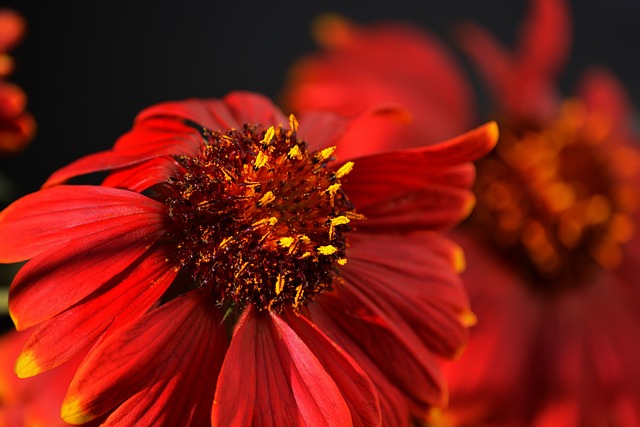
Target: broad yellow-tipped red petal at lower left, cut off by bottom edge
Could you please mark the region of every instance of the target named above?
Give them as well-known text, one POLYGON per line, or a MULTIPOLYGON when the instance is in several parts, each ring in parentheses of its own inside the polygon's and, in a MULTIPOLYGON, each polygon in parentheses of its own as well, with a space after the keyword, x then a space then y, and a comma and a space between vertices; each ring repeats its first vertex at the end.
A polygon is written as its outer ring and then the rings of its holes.
POLYGON ((207 425, 226 348, 221 323, 194 291, 109 335, 78 369, 63 418, 86 422, 120 405, 106 425, 207 425))

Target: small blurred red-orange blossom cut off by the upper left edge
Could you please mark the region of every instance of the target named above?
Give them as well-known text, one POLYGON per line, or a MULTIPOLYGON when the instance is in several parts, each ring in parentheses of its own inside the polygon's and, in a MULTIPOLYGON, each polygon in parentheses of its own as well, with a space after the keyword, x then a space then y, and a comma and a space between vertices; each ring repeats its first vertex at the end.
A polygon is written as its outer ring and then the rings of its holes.
POLYGON ((22 150, 36 130, 33 116, 25 111, 27 97, 18 86, 4 79, 13 71, 7 54, 22 38, 25 23, 13 10, 0 9, 0 154, 22 150))

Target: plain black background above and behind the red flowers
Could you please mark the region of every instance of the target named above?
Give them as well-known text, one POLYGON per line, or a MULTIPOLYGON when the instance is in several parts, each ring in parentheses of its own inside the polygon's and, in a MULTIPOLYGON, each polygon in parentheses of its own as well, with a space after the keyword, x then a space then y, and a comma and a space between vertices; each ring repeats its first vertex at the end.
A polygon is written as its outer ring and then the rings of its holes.
MULTIPOLYGON (((38 134, 21 155, 0 160, 13 196, 36 190, 55 169, 109 148, 137 112, 235 89, 277 97, 286 71, 316 49, 314 17, 337 12, 361 23, 405 20, 451 42, 474 20, 513 41, 528 2, 445 1, 5 1, 29 31, 10 78, 24 88, 38 134)), ((640 2, 576 0, 572 55, 560 85, 593 64, 614 70, 640 105, 640 2)), ((463 64, 465 64, 463 62, 463 64)), ((5 284, 6 285, 6 284, 5 284)))

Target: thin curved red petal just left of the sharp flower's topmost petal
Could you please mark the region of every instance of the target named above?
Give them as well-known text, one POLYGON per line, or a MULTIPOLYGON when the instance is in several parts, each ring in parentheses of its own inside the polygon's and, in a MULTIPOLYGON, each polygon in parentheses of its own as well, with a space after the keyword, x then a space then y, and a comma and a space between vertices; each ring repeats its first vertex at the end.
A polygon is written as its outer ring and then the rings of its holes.
POLYGON ((189 120, 209 130, 238 129, 243 124, 231 115, 229 108, 219 99, 187 99, 157 104, 138 114, 136 123, 162 117, 189 120))

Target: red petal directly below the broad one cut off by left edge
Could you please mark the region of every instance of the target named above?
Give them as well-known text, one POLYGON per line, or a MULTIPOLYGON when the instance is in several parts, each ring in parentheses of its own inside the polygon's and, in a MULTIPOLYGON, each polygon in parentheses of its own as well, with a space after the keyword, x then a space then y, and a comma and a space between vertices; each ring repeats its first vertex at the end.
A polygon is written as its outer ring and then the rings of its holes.
POLYGON ((55 316, 129 267, 165 233, 162 221, 154 224, 152 219, 132 216, 24 265, 9 290, 9 311, 16 328, 55 316))

